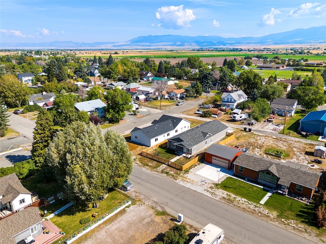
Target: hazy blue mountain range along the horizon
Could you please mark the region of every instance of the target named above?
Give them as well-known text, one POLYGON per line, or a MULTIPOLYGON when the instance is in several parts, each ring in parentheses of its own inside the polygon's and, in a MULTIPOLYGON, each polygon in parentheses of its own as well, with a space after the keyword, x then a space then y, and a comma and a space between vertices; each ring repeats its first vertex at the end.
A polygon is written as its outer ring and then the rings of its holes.
POLYGON ((326 25, 308 29, 269 34, 262 37, 223 38, 220 36, 140 36, 125 42, 0 43, 0 49, 171 49, 171 48, 231 48, 326 43, 326 25))

